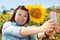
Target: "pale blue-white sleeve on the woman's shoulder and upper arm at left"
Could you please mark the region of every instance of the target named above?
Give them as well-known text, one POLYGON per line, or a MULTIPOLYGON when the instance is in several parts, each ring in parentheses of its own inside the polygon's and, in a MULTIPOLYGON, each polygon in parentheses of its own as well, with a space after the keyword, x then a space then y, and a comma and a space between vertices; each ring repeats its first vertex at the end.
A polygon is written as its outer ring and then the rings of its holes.
POLYGON ((3 25, 2 33, 4 35, 12 35, 16 37, 21 37, 20 36, 20 27, 13 26, 11 22, 6 22, 3 25))

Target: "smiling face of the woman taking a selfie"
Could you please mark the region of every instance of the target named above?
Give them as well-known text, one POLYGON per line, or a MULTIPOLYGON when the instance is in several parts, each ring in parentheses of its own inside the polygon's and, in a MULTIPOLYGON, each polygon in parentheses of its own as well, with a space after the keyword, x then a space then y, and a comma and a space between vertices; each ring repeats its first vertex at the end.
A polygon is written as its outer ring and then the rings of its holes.
POLYGON ((15 15, 15 21, 20 24, 23 25, 24 23, 26 23, 28 18, 28 14, 25 10, 20 10, 18 9, 15 15))

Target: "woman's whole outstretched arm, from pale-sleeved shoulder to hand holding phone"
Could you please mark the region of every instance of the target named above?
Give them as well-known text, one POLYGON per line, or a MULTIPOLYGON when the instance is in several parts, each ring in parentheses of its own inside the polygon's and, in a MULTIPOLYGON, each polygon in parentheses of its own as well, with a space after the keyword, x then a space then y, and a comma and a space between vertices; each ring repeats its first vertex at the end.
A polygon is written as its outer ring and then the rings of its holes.
POLYGON ((41 27, 15 27, 11 22, 7 22, 3 25, 3 33, 6 35, 14 36, 27 36, 31 34, 37 34, 40 32, 52 31, 52 28, 55 27, 52 20, 47 21, 41 27))

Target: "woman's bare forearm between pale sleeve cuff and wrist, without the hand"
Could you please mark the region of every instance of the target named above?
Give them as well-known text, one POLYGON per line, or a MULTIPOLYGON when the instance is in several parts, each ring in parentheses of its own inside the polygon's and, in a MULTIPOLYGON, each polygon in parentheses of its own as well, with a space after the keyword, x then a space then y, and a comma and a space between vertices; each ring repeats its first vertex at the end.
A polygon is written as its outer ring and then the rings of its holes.
POLYGON ((41 29, 41 27, 21 27, 20 35, 21 36, 32 35, 42 31, 43 30, 41 29))

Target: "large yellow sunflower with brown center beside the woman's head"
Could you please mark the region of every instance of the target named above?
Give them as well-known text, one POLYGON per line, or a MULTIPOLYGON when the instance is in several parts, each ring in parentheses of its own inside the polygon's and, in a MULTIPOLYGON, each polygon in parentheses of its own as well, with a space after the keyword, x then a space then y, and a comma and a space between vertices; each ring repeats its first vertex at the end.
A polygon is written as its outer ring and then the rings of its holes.
POLYGON ((45 8, 41 7, 41 5, 27 5, 25 7, 29 10, 31 21, 35 23, 40 23, 44 21, 45 8))

